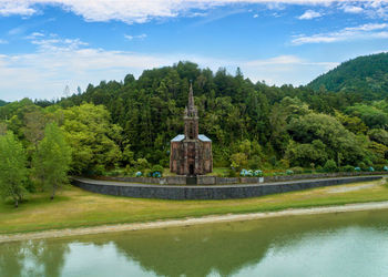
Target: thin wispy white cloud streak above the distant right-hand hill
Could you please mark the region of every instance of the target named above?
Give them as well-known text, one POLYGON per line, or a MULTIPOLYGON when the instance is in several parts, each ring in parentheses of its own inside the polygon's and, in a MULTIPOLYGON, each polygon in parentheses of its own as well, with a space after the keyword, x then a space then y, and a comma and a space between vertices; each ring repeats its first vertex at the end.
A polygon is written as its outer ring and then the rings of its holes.
POLYGON ((348 40, 385 38, 385 32, 376 32, 377 30, 382 29, 388 29, 388 24, 368 23, 358 27, 347 27, 336 32, 296 35, 292 40, 292 44, 300 45, 306 43, 330 43, 348 40))

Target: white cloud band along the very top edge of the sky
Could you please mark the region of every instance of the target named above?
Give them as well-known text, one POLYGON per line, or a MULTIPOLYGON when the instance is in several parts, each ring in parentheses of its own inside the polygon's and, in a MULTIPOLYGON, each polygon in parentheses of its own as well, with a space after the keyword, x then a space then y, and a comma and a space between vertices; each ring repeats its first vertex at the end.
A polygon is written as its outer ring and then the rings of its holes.
POLYGON ((327 7, 338 2, 348 3, 349 11, 359 10, 359 6, 365 4, 369 10, 375 10, 376 14, 385 14, 384 4, 388 0, 0 0, 0 16, 31 16, 43 6, 50 4, 79 14, 86 21, 118 20, 126 23, 143 23, 157 18, 192 17, 198 13, 198 10, 234 3, 259 3, 272 9, 282 9, 285 4, 327 7))

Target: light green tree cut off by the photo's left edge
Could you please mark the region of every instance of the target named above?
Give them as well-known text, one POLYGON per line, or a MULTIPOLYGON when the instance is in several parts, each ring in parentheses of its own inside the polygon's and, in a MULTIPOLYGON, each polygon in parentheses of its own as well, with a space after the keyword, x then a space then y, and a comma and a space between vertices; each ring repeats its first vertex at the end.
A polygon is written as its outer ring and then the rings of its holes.
POLYGON ((0 136, 0 194, 11 197, 14 206, 19 206, 25 191, 27 157, 21 143, 12 132, 0 136))

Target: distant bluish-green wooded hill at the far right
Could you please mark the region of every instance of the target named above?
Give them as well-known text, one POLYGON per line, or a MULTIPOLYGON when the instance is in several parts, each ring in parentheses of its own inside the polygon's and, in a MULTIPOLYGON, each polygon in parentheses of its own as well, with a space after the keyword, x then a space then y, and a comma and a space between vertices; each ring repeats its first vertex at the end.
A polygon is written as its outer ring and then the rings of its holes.
POLYGON ((364 99, 388 96, 388 53, 358 57, 341 63, 308 84, 314 90, 357 92, 364 99))

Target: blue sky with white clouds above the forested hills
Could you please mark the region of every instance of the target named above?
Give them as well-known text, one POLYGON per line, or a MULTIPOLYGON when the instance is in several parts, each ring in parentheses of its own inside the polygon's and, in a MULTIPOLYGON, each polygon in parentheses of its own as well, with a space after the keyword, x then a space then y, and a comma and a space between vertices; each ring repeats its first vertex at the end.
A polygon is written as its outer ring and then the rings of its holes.
POLYGON ((0 0, 0 99, 55 99, 190 60, 306 84, 388 50, 388 0, 0 0))

